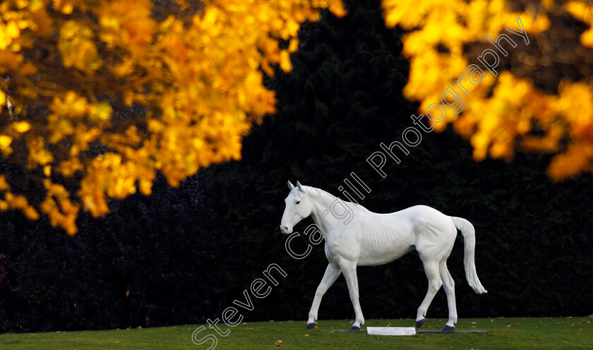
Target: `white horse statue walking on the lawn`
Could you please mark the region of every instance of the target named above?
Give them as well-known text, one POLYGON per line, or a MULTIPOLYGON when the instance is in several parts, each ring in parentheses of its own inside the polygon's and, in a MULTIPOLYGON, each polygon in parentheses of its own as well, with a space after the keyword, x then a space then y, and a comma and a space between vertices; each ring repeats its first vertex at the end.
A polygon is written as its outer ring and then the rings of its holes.
POLYGON ((418 308, 416 327, 424 325, 426 310, 442 285, 449 307, 449 320, 443 330, 455 330, 455 282, 447 270, 447 258, 453 249, 457 229, 465 240, 463 264, 467 282, 477 294, 486 293, 478 279, 474 263, 474 227, 466 219, 448 217, 426 205, 416 205, 390 214, 377 214, 362 205, 342 202, 318 188, 301 186, 298 181, 296 187, 288 181, 288 188, 290 193, 284 200, 286 208, 280 223, 282 233, 291 234, 295 224, 311 215, 325 239, 325 256, 329 261, 313 298, 307 329, 316 326, 317 311, 323 294, 340 276, 340 272, 344 272, 356 314, 350 330, 360 330, 360 325, 364 325, 364 317, 359 303, 357 266, 390 263, 415 249, 429 279, 429 290, 418 308), (335 203, 343 203, 342 214, 335 214, 337 210, 332 207, 337 206, 335 203), (351 217, 344 214, 344 205, 352 210, 351 217))

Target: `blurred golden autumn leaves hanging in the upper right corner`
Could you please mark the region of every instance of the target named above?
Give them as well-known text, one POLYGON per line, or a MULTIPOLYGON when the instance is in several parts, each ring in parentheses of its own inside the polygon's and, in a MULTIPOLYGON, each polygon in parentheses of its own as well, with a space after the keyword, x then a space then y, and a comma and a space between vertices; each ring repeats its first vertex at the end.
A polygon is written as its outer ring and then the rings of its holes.
POLYGON ((463 110, 457 114, 447 109, 443 121, 433 122, 437 131, 452 123, 472 144, 477 161, 487 156, 510 160, 520 147, 556 153, 549 166, 554 180, 593 172, 590 1, 383 0, 382 4, 386 25, 406 31, 402 54, 411 68, 403 92, 420 102, 422 112, 441 102, 441 93, 455 87, 470 64, 484 71, 480 83, 469 84, 465 94, 459 92, 463 110), (588 29, 579 32, 577 21, 588 29), (529 42, 507 30, 519 30, 520 24, 529 42), (504 33, 515 42, 515 47, 505 39, 498 42, 508 55, 493 44, 504 33), (497 50, 496 76, 477 61, 484 49, 497 50))

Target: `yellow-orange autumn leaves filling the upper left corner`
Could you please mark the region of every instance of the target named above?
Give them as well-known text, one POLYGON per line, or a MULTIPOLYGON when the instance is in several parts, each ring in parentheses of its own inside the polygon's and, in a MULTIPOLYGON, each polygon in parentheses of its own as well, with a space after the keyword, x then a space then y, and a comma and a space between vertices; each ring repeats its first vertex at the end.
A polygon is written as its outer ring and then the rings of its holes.
POLYGON ((108 198, 150 195, 158 172, 177 186, 239 159, 275 111, 264 74, 291 70, 301 23, 324 8, 346 14, 340 0, 2 1, 0 151, 45 199, 31 205, 0 175, 0 210, 75 234, 80 210, 100 217, 108 198), (60 181, 75 176, 71 193, 60 181))

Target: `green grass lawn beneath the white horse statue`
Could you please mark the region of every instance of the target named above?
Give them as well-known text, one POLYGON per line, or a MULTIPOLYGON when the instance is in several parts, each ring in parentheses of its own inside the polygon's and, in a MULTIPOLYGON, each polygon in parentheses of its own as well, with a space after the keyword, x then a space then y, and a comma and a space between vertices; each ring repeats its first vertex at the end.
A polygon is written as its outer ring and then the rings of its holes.
MULTIPOLYGON (((321 320, 305 330, 305 321, 247 322, 218 337, 216 349, 593 349, 593 318, 474 318, 457 322, 457 330, 488 334, 418 334, 377 337, 347 330, 352 320, 321 320), (280 346, 275 342, 282 340, 280 346)), ((441 330, 446 320, 429 319, 423 330, 441 330)), ((366 326, 411 327, 414 320, 366 320, 366 326)), ((36 349, 208 349, 196 345, 197 325, 133 330, 0 334, 2 350, 36 349)), ((364 327, 363 327, 364 328, 364 327)), ((226 330, 224 325, 222 330, 226 330)), ((207 334, 204 330, 200 337, 207 334)))

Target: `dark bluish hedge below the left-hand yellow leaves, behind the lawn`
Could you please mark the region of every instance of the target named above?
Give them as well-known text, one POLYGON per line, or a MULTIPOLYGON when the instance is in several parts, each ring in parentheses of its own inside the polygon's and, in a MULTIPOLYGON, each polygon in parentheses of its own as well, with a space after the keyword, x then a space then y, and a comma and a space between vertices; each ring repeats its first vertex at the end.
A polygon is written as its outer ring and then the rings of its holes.
POLYGON ((68 236, 46 219, 1 215, 0 330, 87 330, 198 322, 217 308, 215 257, 197 178, 82 215, 68 236), (211 274, 210 274, 211 276, 211 274))

